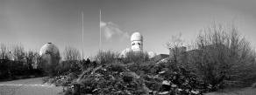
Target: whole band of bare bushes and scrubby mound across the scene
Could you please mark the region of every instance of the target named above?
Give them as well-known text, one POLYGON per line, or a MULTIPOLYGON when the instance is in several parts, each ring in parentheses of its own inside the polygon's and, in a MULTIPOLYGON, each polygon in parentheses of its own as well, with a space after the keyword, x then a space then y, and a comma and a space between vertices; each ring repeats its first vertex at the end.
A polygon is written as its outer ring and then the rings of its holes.
POLYGON ((93 59, 81 60, 78 50, 67 47, 63 61, 52 56, 54 64, 45 64, 38 53, 15 47, 11 54, 1 44, 0 78, 44 71, 50 76, 47 82, 67 87, 66 94, 198 95, 256 81, 255 51, 236 28, 213 24, 190 47, 187 51, 181 38, 174 37, 167 42, 170 57, 160 61, 142 51, 127 52, 124 58, 115 51, 99 51, 93 59), (35 60, 38 69, 32 68, 35 60))

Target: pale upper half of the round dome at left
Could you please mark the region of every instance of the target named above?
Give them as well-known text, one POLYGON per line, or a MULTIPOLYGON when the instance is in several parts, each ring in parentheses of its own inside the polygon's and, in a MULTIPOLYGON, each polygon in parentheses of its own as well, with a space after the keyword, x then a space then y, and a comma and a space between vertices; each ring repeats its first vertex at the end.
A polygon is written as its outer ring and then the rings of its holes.
POLYGON ((52 43, 44 44, 39 51, 40 56, 47 54, 47 53, 52 53, 56 56, 60 56, 60 51, 59 51, 58 47, 52 43))

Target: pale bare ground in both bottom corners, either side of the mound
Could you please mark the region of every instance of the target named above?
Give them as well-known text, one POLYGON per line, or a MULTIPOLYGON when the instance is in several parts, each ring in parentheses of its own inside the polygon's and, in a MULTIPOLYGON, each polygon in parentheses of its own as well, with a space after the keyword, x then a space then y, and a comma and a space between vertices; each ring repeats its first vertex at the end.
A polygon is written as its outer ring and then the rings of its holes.
MULTIPOLYGON (((57 95, 62 87, 43 85, 42 78, 27 78, 0 82, 0 95, 57 95)), ((256 95, 256 88, 244 88, 205 95, 256 95)))

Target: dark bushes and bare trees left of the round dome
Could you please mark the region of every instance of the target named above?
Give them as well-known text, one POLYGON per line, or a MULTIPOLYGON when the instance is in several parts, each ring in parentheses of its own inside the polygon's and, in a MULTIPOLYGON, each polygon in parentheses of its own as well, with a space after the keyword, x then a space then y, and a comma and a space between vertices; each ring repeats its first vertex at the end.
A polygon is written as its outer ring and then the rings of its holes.
POLYGON ((21 45, 8 48, 1 44, 0 80, 18 78, 33 78, 43 76, 42 69, 36 68, 39 54, 34 51, 24 51, 21 45))

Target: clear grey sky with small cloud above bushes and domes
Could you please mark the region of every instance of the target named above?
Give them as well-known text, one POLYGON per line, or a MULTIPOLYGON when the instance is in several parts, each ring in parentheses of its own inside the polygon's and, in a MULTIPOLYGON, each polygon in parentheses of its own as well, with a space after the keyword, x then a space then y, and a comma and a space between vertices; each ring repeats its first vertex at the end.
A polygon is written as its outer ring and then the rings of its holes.
POLYGON ((167 54, 172 36, 189 43, 216 22, 235 24, 255 47, 255 9, 255 0, 0 0, 0 43, 39 51, 52 42, 60 52, 72 46, 92 57, 100 48, 130 48, 138 31, 145 51, 167 54))

